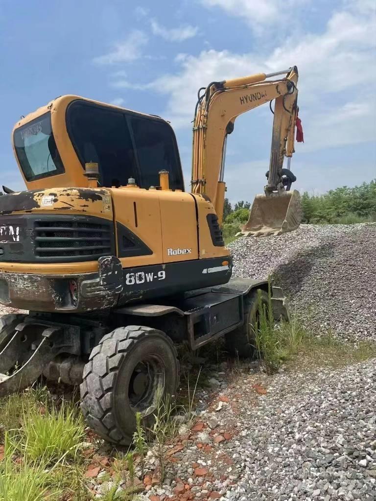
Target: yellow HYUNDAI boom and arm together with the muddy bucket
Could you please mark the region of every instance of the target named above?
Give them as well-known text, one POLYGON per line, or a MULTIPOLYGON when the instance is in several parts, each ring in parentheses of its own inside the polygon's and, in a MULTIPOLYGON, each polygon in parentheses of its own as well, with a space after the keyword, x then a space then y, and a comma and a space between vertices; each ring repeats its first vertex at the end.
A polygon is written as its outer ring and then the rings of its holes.
POLYGON ((265 194, 256 196, 241 230, 244 235, 275 235, 299 226, 300 196, 296 190, 288 191, 296 178, 282 169, 284 157, 290 158, 294 151, 297 80, 294 66, 276 73, 212 82, 204 93, 199 91, 193 127, 192 192, 205 193, 212 200, 220 222, 226 189, 223 179, 227 136, 237 116, 275 100, 265 194), (266 81, 281 74, 285 78, 266 81))

